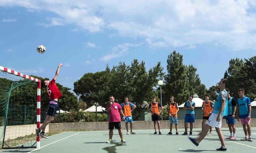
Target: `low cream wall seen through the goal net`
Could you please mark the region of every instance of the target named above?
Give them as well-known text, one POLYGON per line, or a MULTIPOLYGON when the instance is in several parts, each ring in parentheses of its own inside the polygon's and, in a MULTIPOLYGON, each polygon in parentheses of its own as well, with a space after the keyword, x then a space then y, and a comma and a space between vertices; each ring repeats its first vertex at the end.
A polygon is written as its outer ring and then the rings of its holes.
MULTIPOLYGON (((45 132, 49 132, 49 125, 46 126, 45 132)), ((5 140, 15 139, 20 136, 31 134, 36 134, 36 124, 7 126, 5 132, 5 140)))

